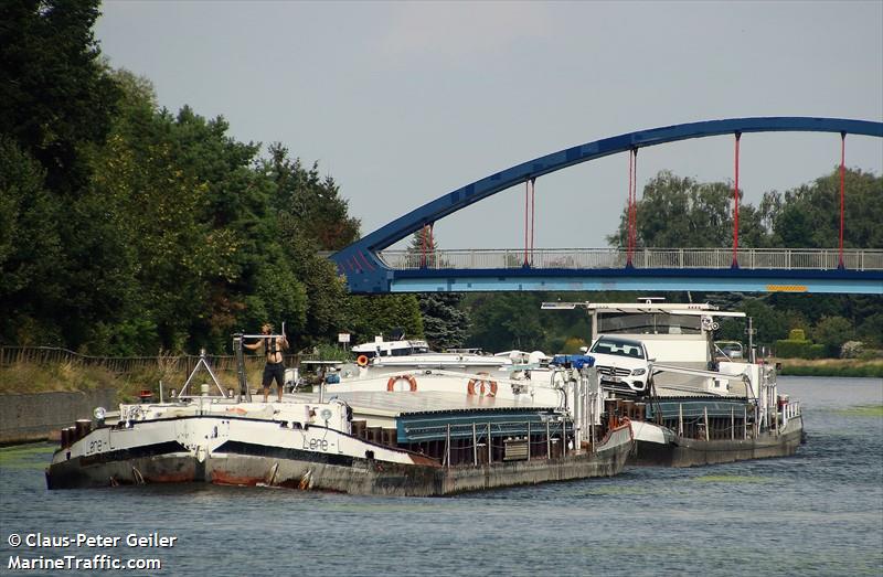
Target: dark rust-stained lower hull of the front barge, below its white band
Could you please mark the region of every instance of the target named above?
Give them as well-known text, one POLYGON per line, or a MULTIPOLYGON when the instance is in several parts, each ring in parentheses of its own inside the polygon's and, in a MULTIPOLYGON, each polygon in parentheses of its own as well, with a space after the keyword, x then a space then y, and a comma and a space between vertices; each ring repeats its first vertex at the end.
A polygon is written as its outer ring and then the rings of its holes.
POLYGON ((611 477, 619 473, 634 441, 628 426, 610 431, 595 452, 557 459, 439 467, 236 444, 199 460, 174 450, 118 455, 89 461, 73 458, 46 470, 49 489, 82 489, 142 483, 206 482, 273 485, 351 494, 442 496, 504 487, 611 477), (223 450, 223 452, 222 452, 223 450))

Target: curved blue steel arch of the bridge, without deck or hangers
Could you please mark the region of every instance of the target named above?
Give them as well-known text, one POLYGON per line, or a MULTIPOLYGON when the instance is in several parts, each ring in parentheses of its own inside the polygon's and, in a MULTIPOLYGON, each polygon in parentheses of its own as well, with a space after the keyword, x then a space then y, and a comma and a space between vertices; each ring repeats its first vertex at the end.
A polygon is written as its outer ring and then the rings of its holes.
POLYGON ((365 235, 334 254, 332 259, 337 263, 338 270, 347 275, 350 290, 357 292, 385 291, 389 290, 392 271, 380 261, 375 252, 389 247, 427 224, 435 223, 498 192, 551 172, 631 149, 692 138, 777 131, 840 132, 883 137, 883 122, 816 117, 728 118, 672 125, 604 138, 515 164, 444 194, 365 235), (386 288, 383 287, 384 285, 386 288))

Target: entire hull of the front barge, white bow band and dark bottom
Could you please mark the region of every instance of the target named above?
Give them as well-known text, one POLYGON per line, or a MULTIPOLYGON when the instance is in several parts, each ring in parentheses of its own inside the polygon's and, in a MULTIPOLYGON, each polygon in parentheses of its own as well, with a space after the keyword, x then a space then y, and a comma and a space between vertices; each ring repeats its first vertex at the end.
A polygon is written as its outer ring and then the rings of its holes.
POLYGON ((331 428, 292 425, 210 415, 104 427, 56 451, 46 482, 50 489, 208 482, 433 496, 614 476, 634 445, 626 424, 594 451, 447 468, 331 428))

